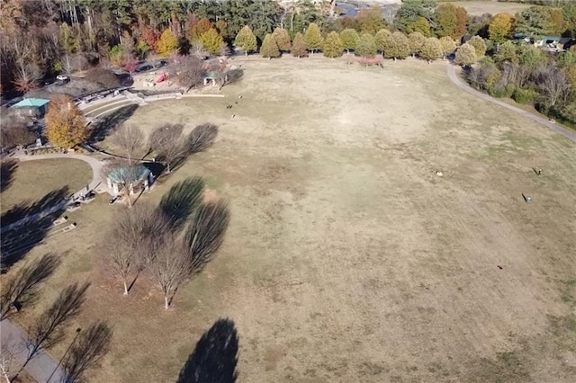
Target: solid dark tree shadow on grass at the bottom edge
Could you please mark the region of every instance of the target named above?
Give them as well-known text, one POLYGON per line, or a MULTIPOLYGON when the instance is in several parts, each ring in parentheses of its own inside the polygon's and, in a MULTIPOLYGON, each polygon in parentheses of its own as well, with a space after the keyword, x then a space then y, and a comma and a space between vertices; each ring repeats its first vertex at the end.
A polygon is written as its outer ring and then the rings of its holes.
POLYGON ((234 383, 237 364, 236 326, 229 319, 219 319, 196 343, 176 383, 234 383))

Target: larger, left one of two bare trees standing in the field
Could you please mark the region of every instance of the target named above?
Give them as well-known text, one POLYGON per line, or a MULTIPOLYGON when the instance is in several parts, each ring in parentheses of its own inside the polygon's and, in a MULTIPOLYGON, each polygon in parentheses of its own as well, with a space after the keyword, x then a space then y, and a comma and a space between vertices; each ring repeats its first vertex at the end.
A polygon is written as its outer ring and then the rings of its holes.
POLYGON ((125 209, 115 217, 104 236, 104 250, 114 272, 121 278, 124 295, 130 291, 130 274, 138 273, 152 262, 157 250, 164 245, 168 231, 161 211, 144 203, 125 209))

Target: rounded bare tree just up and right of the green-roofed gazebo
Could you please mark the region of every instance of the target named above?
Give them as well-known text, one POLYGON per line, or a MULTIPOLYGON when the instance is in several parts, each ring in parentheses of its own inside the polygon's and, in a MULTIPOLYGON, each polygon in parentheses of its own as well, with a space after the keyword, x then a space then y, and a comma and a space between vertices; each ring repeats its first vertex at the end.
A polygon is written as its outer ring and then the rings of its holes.
POLYGON ((164 124, 157 127, 150 134, 150 147, 156 151, 160 160, 166 162, 167 172, 170 165, 186 155, 186 147, 182 139, 182 124, 164 124))

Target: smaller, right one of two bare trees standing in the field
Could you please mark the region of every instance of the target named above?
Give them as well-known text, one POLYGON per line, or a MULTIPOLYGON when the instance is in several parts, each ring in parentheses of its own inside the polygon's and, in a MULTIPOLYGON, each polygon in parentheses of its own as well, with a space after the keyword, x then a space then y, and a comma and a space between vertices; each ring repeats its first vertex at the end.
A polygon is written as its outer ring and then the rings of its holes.
POLYGON ((170 308, 176 289, 190 276, 191 268, 192 258, 182 241, 173 238, 159 250, 150 271, 162 289, 166 310, 170 308))

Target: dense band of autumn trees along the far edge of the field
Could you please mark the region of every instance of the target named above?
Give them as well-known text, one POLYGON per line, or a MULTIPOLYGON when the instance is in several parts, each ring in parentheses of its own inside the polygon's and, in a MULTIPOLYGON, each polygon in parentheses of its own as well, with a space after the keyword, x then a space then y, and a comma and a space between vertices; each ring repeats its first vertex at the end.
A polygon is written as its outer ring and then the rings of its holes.
MULTIPOLYGON (((573 36, 576 4, 558 2, 558 6, 528 8, 514 18, 513 28, 506 33, 573 36)), ((265 0, 5 0, 0 21, 0 90, 25 92, 45 76, 96 64, 112 63, 132 72, 149 53, 218 55, 234 47, 250 52, 264 46, 266 56, 274 57, 276 45, 278 51, 293 50, 298 57, 305 50, 322 49, 334 57, 340 46, 354 49, 350 47, 356 38, 350 37, 350 31, 347 40, 342 40, 345 30, 356 31, 360 38, 366 35, 361 47, 371 53, 373 44, 367 35, 376 39, 384 29, 458 41, 464 34, 490 38, 490 23, 490 15, 471 17, 463 7, 434 0, 404 0, 399 9, 374 6, 360 10, 356 17, 338 18, 329 14, 329 2, 311 0, 298 0, 284 8, 265 0), (302 43, 298 33, 305 35, 311 25, 320 29, 322 39, 311 36, 302 43), (338 33, 339 42, 332 32, 338 33), (275 39, 266 39, 268 34, 275 39), (295 47, 287 47, 287 38, 295 47)), ((405 46, 405 40, 400 45, 405 46)), ((378 45, 376 49, 381 50, 378 45)), ((424 56, 437 57, 437 41, 429 40, 424 50, 424 56)))

